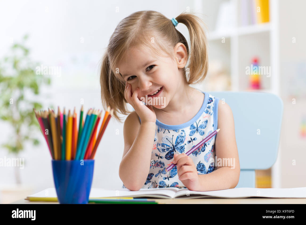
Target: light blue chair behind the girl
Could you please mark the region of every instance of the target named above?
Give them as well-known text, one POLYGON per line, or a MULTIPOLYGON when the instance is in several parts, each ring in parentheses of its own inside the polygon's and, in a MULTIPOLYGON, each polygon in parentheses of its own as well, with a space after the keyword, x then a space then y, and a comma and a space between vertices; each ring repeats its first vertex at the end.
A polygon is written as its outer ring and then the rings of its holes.
POLYGON ((255 170, 275 163, 281 133, 283 102, 264 92, 208 92, 232 109, 240 162, 236 186, 255 188, 255 170), (260 134, 257 134, 259 133, 260 134))

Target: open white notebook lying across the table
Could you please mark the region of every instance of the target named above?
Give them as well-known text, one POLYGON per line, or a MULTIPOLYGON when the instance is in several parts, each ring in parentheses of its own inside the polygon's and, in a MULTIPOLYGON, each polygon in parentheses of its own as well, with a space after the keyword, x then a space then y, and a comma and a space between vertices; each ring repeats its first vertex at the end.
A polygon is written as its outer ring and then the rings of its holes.
MULTIPOLYGON (((150 188, 140 189, 139 191, 130 191, 126 188, 102 189, 91 188, 89 199, 105 197, 152 197, 168 199, 192 199, 192 198, 248 198, 248 197, 266 197, 266 198, 306 198, 306 187, 298 188, 233 188, 218 191, 190 191, 188 189, 178 189, 176 187, 168 188, 150 188)), ((26 198, 30 201, 57 201, 55 188, 48 188, 39 193, 30 195, 26 198)))

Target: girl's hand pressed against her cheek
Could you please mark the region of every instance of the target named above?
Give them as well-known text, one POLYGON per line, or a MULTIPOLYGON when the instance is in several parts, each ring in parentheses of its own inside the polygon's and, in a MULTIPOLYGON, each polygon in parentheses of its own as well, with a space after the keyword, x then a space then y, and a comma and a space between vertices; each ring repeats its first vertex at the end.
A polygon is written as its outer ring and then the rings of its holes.
POLYGON ((137 115, 140 117, 141 122, 156 122, 155 111, 153 110, 152 105, 144 105, 137 96, 140 89, 137 88, 131 96, 131 84, 128 82, 125 83, 124 97, 135 109, 137 115))

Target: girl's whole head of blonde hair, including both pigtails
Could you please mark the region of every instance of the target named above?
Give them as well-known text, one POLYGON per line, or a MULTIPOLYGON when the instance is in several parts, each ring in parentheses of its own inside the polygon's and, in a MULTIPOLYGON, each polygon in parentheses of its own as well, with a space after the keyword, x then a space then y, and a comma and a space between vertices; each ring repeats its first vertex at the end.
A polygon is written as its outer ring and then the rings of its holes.
MULTIPOLYGON (((198 84, 204 80, 208 70, 207 38, 203 30, 202 19, 195 13, 183 12, 175 18, 185 24, 190 36, 190 48, 187 40, 173 25, 171 19, 156 11, 138 11, 125 17, 115 28, 102 59, 100 85, 104 109, 114 109, 114 117, 121 121, 117 113, 127 115, 127 101, 124 97, 125 81, 118 72, 118 65, 131 47, 141 47, 152 54, 165 52, 175 59, 174 47, 183 43, 189 57, 189 76, 182 69, 187 84, 198 84), (151 40, 154 37, 154 42, 151 40)), ((127 57, 127 56, 126 56, 127 57)))

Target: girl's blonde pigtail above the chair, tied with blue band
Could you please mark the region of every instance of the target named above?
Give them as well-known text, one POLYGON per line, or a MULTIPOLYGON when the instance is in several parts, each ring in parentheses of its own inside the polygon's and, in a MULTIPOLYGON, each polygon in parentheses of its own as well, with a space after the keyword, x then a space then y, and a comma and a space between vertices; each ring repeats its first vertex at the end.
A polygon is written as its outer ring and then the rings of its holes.
MULTIPOLYGON (((185 24, 189 32, 190 49, 184 43, 189 55, 189 64, 186 66, 188 84, 201 83, 205 79, 208 70, 207 37, 203 29, 203 26, 206 27, 206 25, 200 17, 190 12, 181 13, 175 19, 178 23, 185 24)), ((180 34, 179 36, 182 36, 180 32, 178 33, 180 34)))

